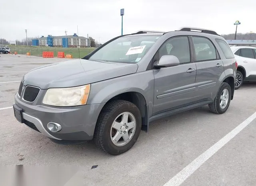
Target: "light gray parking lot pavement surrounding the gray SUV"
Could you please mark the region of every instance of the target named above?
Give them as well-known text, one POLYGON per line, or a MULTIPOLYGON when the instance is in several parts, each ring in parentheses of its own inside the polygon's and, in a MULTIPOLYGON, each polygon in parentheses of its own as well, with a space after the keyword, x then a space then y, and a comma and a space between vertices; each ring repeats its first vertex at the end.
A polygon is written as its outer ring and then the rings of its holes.
POLYGON ((150 123, 148 133, 141 131, 128 152, 112 156, 93 141, 55 144, 14 118, 14 94, 24 73, 67 59, 0 56, 1 166, 53 166, 59 168, 58 176, 48 175, 50 180, 62 180, 65 186, 75 181, 86 186, 256 185, 256 83, 236 90, 226 113, 216 115, 205 106, 150 123), (65 177, 69 167, 74 171, 65 177))

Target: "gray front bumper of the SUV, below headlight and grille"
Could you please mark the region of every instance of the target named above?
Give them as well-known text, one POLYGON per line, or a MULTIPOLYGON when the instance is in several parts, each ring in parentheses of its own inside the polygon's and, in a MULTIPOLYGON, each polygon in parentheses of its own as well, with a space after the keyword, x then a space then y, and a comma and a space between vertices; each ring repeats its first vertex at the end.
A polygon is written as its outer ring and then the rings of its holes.
POLYGON ((14 104, 23 109, 22 116, 25 120, 23 123, 55 140, 92 140, 98 115, 104 106, 102 103, 76 107, 50 107, 38 105, 36 102, 24 102, 18 94, 15 95, 14 104), (62 130, 57 133, 49 131, 47 128, 49 122, 60 124, 62 130))

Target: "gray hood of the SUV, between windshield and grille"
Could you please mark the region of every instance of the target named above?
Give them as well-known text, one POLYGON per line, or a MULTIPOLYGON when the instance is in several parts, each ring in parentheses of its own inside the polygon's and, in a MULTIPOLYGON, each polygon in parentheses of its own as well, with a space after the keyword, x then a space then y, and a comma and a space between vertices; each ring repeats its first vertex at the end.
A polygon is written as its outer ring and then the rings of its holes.
POLYGON ((22 79, 24 85, 41 89, 75 87, 136 73, 138 65, 74 59, 32 69, 22 79))

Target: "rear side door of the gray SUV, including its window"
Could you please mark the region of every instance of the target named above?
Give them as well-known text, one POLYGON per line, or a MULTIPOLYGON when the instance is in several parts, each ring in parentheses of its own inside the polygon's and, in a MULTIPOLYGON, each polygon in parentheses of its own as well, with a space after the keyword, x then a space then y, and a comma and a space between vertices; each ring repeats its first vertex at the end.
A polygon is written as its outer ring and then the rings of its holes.
POLYGON ((196 64, 196 94, 198 99, 212 100, 220 87, 224 65, 212 41, 201 36, 191 36, 196 64))

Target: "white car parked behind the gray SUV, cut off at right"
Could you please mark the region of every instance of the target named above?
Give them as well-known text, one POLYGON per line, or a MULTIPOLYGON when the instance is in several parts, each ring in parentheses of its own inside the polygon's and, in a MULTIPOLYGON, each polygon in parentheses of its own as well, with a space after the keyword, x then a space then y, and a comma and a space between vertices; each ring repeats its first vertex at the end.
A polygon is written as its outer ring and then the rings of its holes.
POLYGON ((244 81, 256 82, 256 47, 230 46, 230 48, 238 63, 235 89, 239 89, 244 81))

